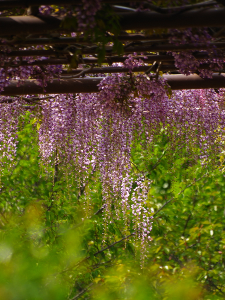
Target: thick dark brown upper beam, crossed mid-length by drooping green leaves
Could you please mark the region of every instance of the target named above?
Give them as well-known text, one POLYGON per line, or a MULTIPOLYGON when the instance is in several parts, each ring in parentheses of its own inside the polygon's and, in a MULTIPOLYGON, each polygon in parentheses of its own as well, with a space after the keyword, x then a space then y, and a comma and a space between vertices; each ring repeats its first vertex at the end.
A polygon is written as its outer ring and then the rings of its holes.
MULTIPOLYGON (((0 1, 3 2, 4 0, 0 1)), ((17 0, 15 0, 17 1, 17 0)), ((161 14, 156 12, 117 13, 122 30, 155 28, 221 27, 225 26, 225 8, 205 8, 183 13, 161 14)), ((60 27, 56 16, 8 16, 0 17, 0 35, 44 34, 51 31, 68 32, 60 27)))

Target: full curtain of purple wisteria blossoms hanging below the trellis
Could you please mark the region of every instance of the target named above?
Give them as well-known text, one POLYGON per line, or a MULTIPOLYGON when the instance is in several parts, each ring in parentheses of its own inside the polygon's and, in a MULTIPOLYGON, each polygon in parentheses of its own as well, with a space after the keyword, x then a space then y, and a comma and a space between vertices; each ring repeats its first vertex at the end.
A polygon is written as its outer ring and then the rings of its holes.
MULTIPOLYGON (((132 61, 130 58, 126 64, 132 67, 132 61)), ((161 77, 148 80, 143 74, 114 74, 101 81, 99 93, 51 95, 37 110, 43 164, 67 166, 78 187, 98 171, 105 228, 112 222, 112 207, 118 218, 122 214, 125 227, 132 217, 143 262, 152 226, 150 182, 143 174, 133 174, 132 147, 137 144, 149 149, 163 132, 171 153, 185 150, 198 155, 202 165, 223 151, 224 92, 174 91, 169 98, 168 88, 161 77)), ((11 160, 16 153, 19 116, 28 108, 14 98, 0 99, 0 152, 2 158, 11 160)))

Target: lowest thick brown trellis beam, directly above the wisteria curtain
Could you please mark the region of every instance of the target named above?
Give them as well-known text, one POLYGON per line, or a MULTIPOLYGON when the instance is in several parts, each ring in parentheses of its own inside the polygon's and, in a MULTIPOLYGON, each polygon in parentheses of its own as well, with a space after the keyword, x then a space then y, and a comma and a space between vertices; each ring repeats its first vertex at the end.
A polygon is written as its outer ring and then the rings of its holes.
MULTIPOLYGON (((5 87, 1 95, 35 95, 35 94, 74 94, 98 92, 98 84, 104 77, 76 78, 76 79, 53 79, 45 88, 38 85, 36 79, 24 80, 17 87, 18 81, 11 81, 5 87), (45 90, 45 91, 44 91, 45 90)), ((201 78, 197 74, 163 75, 173 90, 199 89, 199 88, 225 88, 225 73, 216 73, 212 79, 201 78)))

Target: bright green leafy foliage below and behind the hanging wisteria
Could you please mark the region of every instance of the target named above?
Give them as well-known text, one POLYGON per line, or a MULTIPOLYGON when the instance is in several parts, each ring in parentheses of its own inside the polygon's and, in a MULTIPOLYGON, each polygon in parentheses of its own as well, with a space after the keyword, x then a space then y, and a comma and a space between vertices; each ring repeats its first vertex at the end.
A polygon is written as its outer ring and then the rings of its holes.
POLYGON ((66 170, 40 171, 36 122, 24 122, 17 164, 1 178, 1 299, 224 298, 225 184, 217 168, 169 154, 164 139, 145 152, 134 147, 134 173, 152 180, 152 241, 141 269, 138 244, 123 239, 132 224, 113 216, 102 243, 99 174, 85 195, 66 170))

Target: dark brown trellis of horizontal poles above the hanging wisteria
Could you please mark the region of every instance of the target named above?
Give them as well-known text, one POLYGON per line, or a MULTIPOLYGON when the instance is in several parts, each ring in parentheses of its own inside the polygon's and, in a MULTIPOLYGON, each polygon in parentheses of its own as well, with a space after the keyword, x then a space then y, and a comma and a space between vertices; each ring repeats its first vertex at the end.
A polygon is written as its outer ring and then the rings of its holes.
MULTIPOLYGON (((214 67, 214 64, 203 62, 199 65, 200 69, 210 69, 214 71, 212 79, 202 79, 196 74, 185 76, 179 74, 179 69, 174 64, 174 57, 167 52, 179 52, 192 50, 196 60, 208 59, 208 49, 220 49, 224 53, 225 58, 225 8, 221 5, 221 1, 205 1, 193 5, 184 5, 182 7, 156 7, 151 3, 147 3, 147 7, 155 11, 134 11, 130 2, 135 1, 116 1, 103 0, 113 6, 116 15, 119 17, 121 33, 118 36, 112 36, 106 32, 106 36, 110 35, 113 40, 123 43, 123 55, 116 55, 113 45, 105 46, 104 65, 98 65, 97 54, 101 50, 101 43, 95 43, 90 37, 70 37, 70 32, 74 29, 64 28, 61 22, 65 16, 57 15, 27 15, 27 16, 6 16, 7 9, 18 7, 39 7, 40 5, 77 5, 81 4, 78 0, 1 0, 0 10, 0 38, 2 40, 0 55, 7 55, 16 58, 17 62, 12 63, 11 67, 20 66, 46 66, 58 64, 70 64, 74 54, 77 54, 77 61, 82 67, 70 70, 63 70, 60 84, 57 79, 52 83, 48 83, 45 88, 46 93, 76 93, 76 92, 96 92, 97 84, 102 77, 96 74, 104 73, 126 73, 128 68, 112 66, 114 62, 124 62, 128 54, 137 53, 137 58, 144 57, 144 62, 151 64, 156 62, 152 67, 152 71, 156 71, 158 63, 161 63, 161 72, 167 79, 172 89, 186 88, 222 88, 225 87, 225 70, 214 67), (115 5, 116 4, 116 5, 115 5), (214 7, 219 4, 218 7, 214 7), (146 34, 143 30, 152 29, 183 29, 183 28, 203 28, 206 27, 210 31, 214 40, 211 43, 179 43, 182 38, 181 33, 173 35, 174 40, 178 43, 170 43, 170 33, 153 33, 146 34), (125 31, 135 31, 136 33, 127 33, 125 31), (216 38, 216 40, 215 40, 216 38), (4 51, 4 45, 11 47, 10 52, 4 51), (34 49, 41 45, 46 49, 34 49), (30 49, 30 47, 33 49, 30 49), (29 49, 19 49, 21 47, 29 47, 29 49), (26 57, 34 57, 34 61, 28 62, 26 57), (45 57, 43 59, 43 56, 45 57), (108 64, 108 65, 106 65, 108 64), (91 67, 90 67, 91 66, 91 67), (91 78, 79 78, 85 74, 93 74, 91 78), (68 76, 68 78, 67 78, 68 76), (72 77, 72 78, 71 78, 72 77)), ((146 72, 148 65, 135 67, 134 72, 146 72)), ((102 76, 102 75, 101 75, 102 76)), ((43 88, 35 83, 35 78, 25 80, 21 87, 16 87, 16 81, 12 81, 1 95, 26 95, 26 94, 42 94, 43 88)))

